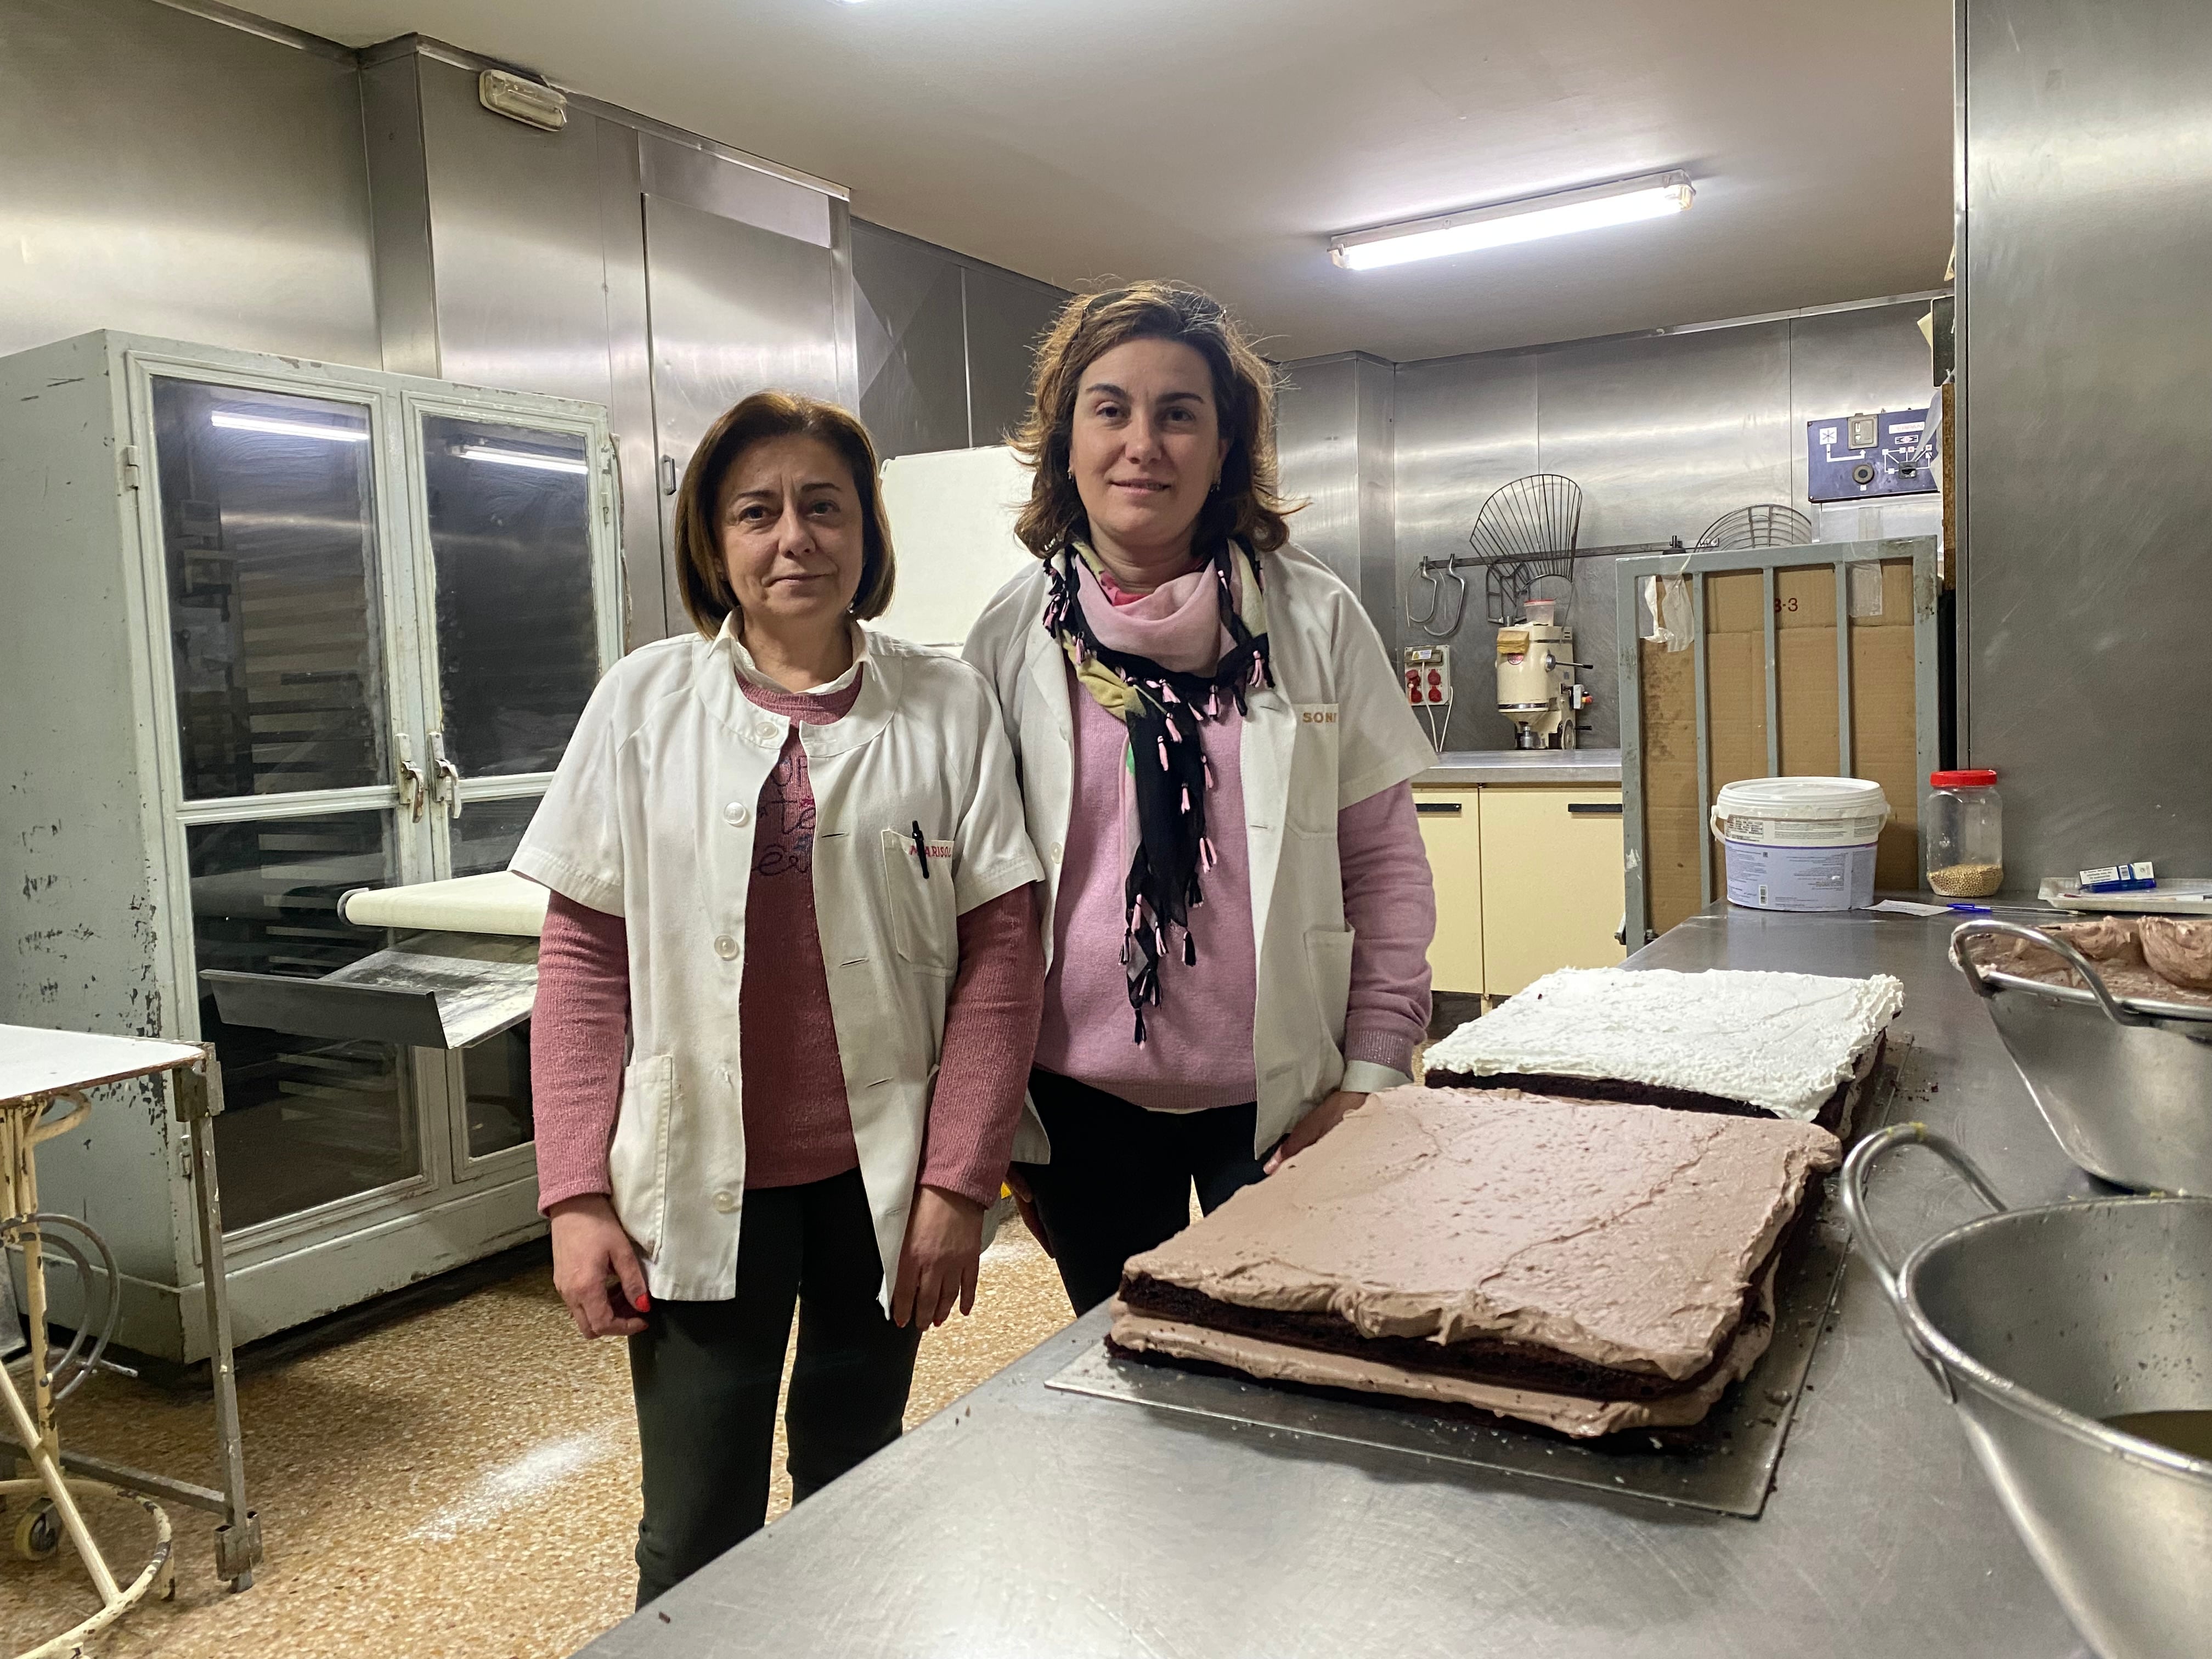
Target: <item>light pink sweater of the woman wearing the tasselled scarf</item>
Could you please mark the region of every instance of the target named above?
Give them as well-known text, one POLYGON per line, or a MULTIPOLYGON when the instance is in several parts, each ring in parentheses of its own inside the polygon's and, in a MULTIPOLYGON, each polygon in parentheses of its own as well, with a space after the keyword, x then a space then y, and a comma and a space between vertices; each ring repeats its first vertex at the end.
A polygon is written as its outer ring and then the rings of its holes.
MULTIPOLYGON (((1201 726, 1214 787, 1206 799, 1221 863, 1199 876, 1206 902, 1190 911, 1197 967, 1168 951, 1159 1006, 1135 1042, 1121 969, 1128 858, 1121 847, 1121 754, 1128 730, 1068 675, 1075 712, 1075 799, 1053 914, 1053 967, 1044 980, 1037 1064, 1150 1110, 1239 1106, 1259 1093, 1252 1015, 1259 967, 1252 947, 1252 872, 1241 825, 1243 721, 1201 726), (1237 825, 1232 830, 1230 825, 1237 825)), ((1400 783, 1336 814, 1345 925, 1354 931, 1345 1060, 1411 1073, 1429 1026, 1429 938, 1436 887, 1420 841, 1413 790, 1400 783)))

